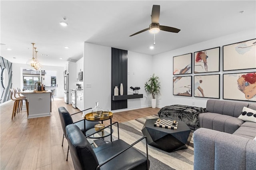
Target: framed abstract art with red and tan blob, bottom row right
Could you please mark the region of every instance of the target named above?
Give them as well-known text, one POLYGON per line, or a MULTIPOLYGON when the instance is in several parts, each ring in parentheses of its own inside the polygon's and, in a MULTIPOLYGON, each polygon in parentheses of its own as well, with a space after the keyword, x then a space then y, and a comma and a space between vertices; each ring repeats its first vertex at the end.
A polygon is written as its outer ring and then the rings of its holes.
POLYGON ((223 74, 223 99, 256 101, 256 72, 223 74))

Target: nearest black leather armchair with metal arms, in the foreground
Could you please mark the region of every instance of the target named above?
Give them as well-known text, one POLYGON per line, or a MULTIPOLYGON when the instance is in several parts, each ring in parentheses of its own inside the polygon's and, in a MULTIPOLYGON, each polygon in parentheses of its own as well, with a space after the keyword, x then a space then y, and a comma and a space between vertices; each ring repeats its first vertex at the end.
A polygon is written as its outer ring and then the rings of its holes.
POLYGON ((75 170, 149 169, 148 142, 146 136, 129 145, 119 139, 118 132, 118 140, 106 143, 97 148, 92 148, 86 137, 88 136, 84 136, 77 126, 68 125, 66 127, 66 138, 70 147, 75 170), (146 156, 132 147, 143 139, 146 139, 146 156))

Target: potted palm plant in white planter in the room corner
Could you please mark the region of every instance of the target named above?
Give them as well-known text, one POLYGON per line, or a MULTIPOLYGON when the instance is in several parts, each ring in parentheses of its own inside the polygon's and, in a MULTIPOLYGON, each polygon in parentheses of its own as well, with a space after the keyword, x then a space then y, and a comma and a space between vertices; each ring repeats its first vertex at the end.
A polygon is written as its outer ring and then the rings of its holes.
POLYGON ((159 77, 153 74, 145 83, 144 88, 148 94, 152 95, 152 99, 151 99, 152 108, 156 108, 156 95, 160 93, 159 77))

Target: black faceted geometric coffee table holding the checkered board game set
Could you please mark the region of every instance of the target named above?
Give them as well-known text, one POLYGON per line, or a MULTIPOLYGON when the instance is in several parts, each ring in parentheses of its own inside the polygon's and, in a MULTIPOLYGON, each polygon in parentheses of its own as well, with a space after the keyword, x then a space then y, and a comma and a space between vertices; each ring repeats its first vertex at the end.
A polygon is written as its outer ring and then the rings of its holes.
MULTIPOLYGON (((171 120, 168 118, 162 119, 171 120)), ((188 148, 192 132, 185 122, 178 121, 178 129, 170 129, 154 127, 156 120, 147 119, 141 130, 144 136, 147 136, 149 145, 166 152, 188 148)))

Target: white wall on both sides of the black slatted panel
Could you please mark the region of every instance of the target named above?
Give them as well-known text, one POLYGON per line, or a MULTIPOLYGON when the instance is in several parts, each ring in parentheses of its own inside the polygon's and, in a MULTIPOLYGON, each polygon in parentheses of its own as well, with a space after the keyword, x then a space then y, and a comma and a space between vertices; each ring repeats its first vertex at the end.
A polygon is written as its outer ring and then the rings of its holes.
MULTIPOLYGON (((144 83, 152 74, 152 56, 128 51, 128 94, 130 89, 140 87, 142 99, 129 99, 127 109, 138 109, 151 105, 144 90, 144 83)), ((84 108, 94 107, 98 101, 100 107, 111 109, 111 47, 84 43, 84 108), (91 88, 86 88, 91 84, 91 88)))

